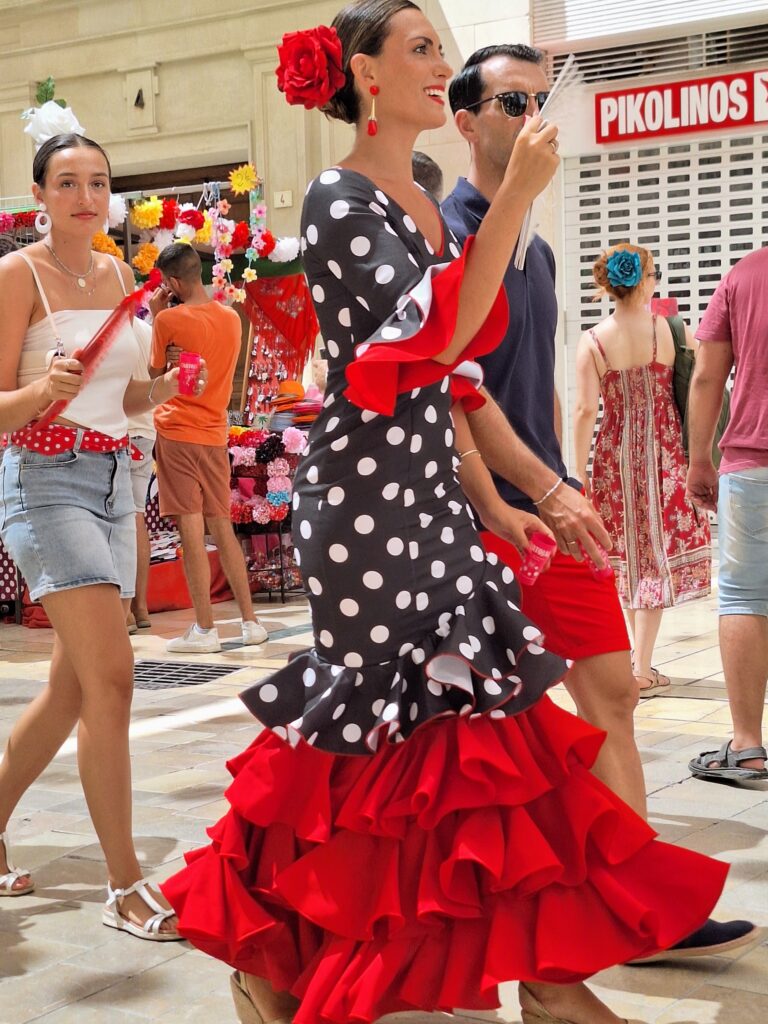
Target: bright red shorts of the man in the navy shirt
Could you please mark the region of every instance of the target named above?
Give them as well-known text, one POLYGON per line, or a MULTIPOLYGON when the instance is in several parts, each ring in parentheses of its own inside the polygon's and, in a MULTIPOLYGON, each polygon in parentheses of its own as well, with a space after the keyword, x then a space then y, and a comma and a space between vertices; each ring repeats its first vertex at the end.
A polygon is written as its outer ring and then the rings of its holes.
MULTIPOLYGON (((495 551, 517 575, 521 562, 517 548, 487 530, 480 538, 485 550, 495 551)), ((520 584, 520 593, 522 610, 541 629, 547 650, 554 654, 579 662, 630 649, 615 581, 596 580, 586 561, 556 551, 547 571, 532 587, 520 584)))

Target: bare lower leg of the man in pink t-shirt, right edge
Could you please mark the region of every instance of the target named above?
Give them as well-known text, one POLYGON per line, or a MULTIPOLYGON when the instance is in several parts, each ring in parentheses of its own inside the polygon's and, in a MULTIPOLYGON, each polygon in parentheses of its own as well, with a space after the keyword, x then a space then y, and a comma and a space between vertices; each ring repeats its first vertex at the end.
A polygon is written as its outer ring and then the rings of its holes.
MULTIPOLYGON (((762 721, 768 679, 768 618, 764 615, 721 615, 720 652, 733 720, 734 751, 762 746, 762 721)), ((713 765, 715 767, 715 765, 713 765)), ((764 768, 758 758, 742 768, 764 768)))

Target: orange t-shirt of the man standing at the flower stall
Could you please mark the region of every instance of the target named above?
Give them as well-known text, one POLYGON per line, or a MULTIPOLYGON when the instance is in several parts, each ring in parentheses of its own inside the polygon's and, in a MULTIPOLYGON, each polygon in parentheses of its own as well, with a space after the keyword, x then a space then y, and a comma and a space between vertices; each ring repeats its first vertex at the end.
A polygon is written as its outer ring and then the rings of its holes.
POLYGON ((166 349, 178 345, 200 352, 208 366, 208 386, 200 397, 180 394, 158 406, 158 433, 174 441, 226 444, 226 411, 241 346, 240 316, 215 300, 199 306, 172 306, 155 317, 151 366, 166 366, 166 349))

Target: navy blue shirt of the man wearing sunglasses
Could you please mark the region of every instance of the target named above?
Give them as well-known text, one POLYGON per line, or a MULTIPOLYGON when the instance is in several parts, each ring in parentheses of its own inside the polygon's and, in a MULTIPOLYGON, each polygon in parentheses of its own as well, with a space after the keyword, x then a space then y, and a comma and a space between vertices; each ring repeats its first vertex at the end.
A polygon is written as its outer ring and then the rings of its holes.
MULTIPOLYGON (((464 245, 468 236, 477 233, 489 206, 474 185, 459 178, 440 209, 464 245)), ((555 434, 555 258, 544 239, 534 236, 522 270, 516 270, 510 261, 504 289, 509 325, 499 347, 477 360, 485 375, 484 384, 517 436, 565 480, 568 474, 555 434)), ((499 476, 495 475, 495 480, 509 505, 536 513, 527 495, 499 476)))

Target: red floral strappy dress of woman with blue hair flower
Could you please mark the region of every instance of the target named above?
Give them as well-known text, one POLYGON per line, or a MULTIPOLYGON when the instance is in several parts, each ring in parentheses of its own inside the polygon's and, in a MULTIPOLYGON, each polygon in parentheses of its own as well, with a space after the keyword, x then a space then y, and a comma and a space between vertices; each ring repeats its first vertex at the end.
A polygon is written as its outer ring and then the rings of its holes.
POLYGON ((710 593, 710 523, 685 497, 687 466, 673 368, 656 360, 600 379, 592 501, 613 541, 610 562, 625 608, 670 608, 710 593))

